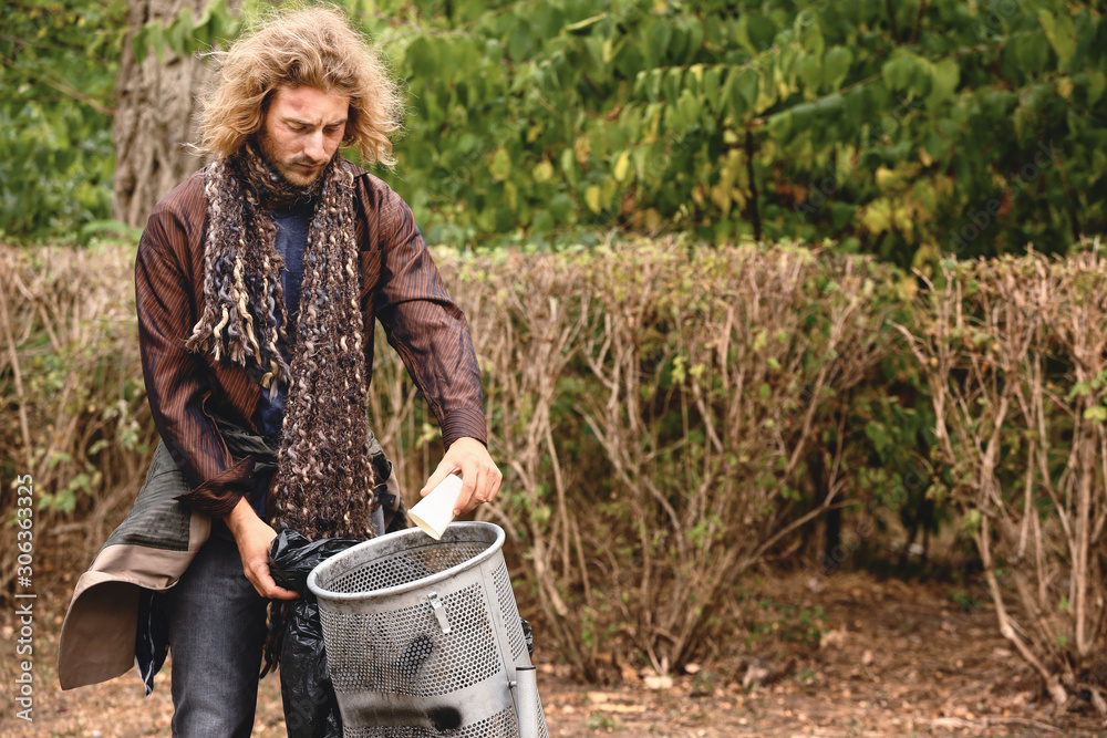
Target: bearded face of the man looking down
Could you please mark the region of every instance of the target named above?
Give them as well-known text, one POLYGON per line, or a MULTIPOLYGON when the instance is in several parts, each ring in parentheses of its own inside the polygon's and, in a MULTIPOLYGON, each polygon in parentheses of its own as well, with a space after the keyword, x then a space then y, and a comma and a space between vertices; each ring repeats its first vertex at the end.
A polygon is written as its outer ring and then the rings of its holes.
POLYGON ((258 137, 261 153, 290 184, 319 179, 345 134, 350 98, 315 87, 279 87, 258 137))

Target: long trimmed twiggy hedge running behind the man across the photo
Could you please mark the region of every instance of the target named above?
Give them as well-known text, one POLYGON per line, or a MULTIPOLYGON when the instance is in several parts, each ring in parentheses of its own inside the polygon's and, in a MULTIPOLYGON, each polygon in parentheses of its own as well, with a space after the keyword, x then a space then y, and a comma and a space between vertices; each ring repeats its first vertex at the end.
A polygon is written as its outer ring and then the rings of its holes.
MULTIPOLYGON (((18 410, 0 418, 4 478, 30 470, 46 524, 87 523, 91 555, 156 438, 132 247, 0 257, 0 392, 18 410)), ((963 520, 984 567, 974 604, 1049 693, 1101 699, 1087 677, 1105 627, 1099 257, 951 261, 932 281, 794 243, 437 258, 505 472, 480 514, 507 531, 520 601, 578 675, 711 661, 738 635, 752 567, 813 553, 813 522, 842 506, 925 500, 963 520)), ((414 498, 441 454, 434 419, 387 349, 371 394, 414 498)))

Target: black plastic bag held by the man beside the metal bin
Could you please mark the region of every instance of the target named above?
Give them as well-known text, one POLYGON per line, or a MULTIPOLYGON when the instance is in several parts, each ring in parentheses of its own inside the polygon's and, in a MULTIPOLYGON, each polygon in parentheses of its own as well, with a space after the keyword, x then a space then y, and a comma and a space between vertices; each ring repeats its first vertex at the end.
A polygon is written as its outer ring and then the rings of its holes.
MULTIPOLYGON (((280 692, 289 738, 342 738, 342 717, 323 651, 319 603, 308 590, 308 574, 335 553, 360 543, 342 538, 309 541, 292 530, 281 531, 269 550, 269 571, 279 586, 300 593, 280 604, 280 692)), ((273 603, 273 613, 278 612, 273 603)), ((272 637, 275 634, 270 634, 272 637)), ((268 666, 267 666, 268 668, 268 666)))

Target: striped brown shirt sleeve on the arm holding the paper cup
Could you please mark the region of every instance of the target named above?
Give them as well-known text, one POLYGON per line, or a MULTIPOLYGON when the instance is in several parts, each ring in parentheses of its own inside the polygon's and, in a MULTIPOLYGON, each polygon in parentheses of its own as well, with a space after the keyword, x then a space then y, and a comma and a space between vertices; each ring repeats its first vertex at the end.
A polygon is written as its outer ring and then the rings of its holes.
POLYGON ((407 204, 383 184, 381 191, 376 318, 438 419, 445 447, 464 437, 487 445, 480 370, 465 314, 447 294, 407 204))

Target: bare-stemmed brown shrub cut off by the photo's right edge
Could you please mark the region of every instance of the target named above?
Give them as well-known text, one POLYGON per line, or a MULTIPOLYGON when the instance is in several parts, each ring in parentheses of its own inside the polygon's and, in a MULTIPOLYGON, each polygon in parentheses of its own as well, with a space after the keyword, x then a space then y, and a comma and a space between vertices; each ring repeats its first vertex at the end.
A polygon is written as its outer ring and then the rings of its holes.
POLYGON ((1000 631, 1055 703, 1092 696, 1104 647, 1107 263, 944 264, 901 328, 924 367, 950 493, 1000 631))

